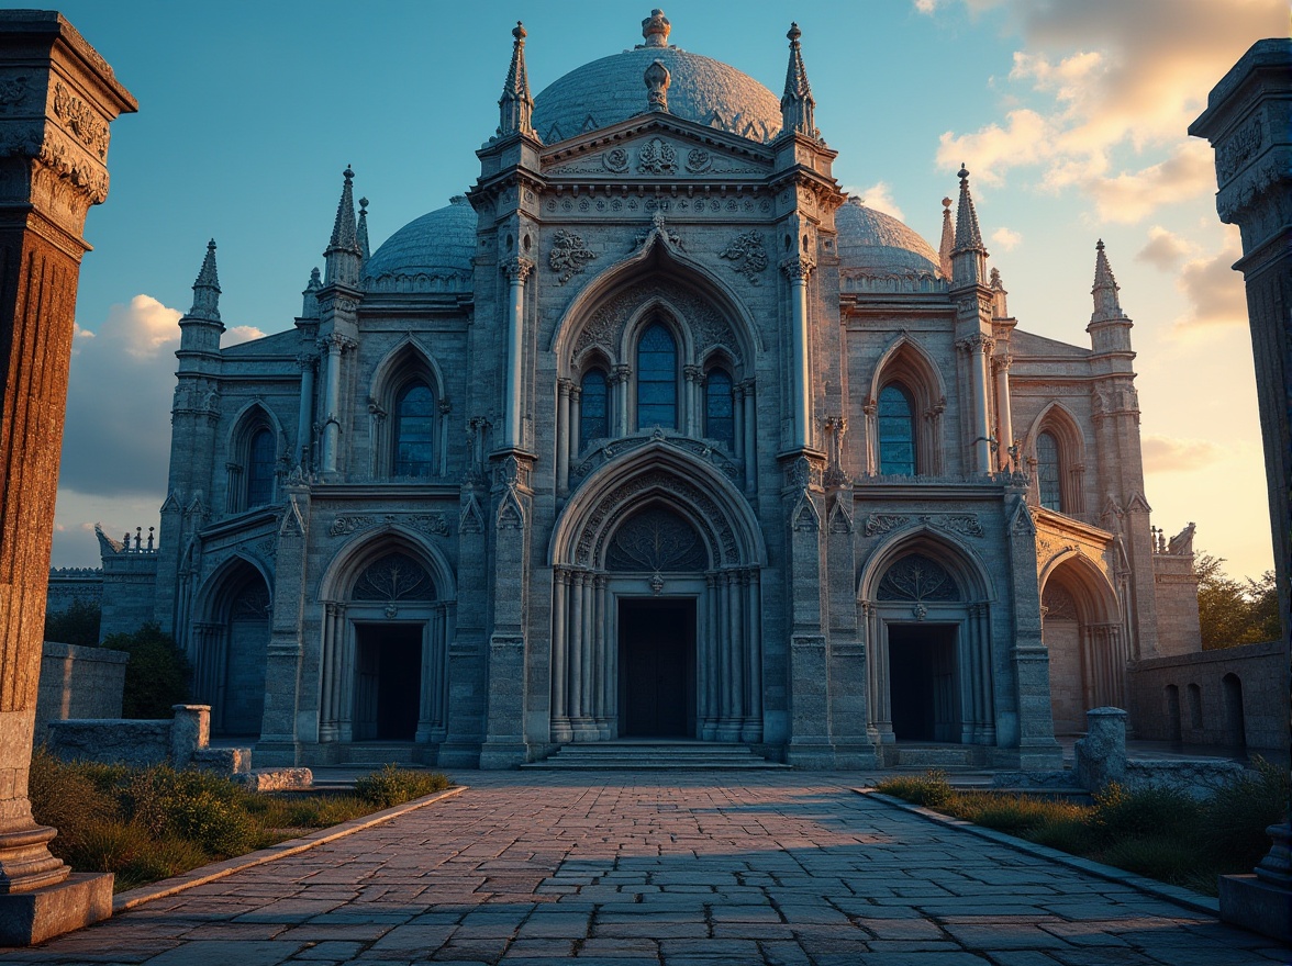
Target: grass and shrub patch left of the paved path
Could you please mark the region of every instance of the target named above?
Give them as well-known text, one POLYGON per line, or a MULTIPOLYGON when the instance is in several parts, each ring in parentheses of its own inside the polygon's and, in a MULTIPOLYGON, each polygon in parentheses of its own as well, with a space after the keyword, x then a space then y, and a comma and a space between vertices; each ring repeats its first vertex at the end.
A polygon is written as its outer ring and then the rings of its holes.
POLYGON ((116 891, 178 876, 314 829, 450 786, 442 772, 388 765, 357 780, 355 794, 264 794, 211 772, 167 766, 31 758, 35 820, 58 836, 49 850, 76 872, 111 872, 116 891))

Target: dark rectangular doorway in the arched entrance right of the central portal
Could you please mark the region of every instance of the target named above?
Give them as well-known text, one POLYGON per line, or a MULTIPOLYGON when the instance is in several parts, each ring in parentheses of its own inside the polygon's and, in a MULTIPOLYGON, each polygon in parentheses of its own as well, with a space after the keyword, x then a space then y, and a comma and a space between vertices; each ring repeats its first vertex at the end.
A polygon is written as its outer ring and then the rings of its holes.
POLYGON ((889 699, 898 741, 960 741, 953 624, 889 624, 889 699))

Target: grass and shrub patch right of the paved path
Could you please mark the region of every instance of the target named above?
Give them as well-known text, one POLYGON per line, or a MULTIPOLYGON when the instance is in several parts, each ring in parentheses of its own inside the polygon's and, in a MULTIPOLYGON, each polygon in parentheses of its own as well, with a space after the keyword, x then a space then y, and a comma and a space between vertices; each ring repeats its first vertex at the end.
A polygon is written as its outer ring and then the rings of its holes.
POLYGON ((885 779, 876 792, 999 829, 1037 845, 1214 896, 1217 876, 1251 872, 1270 848, 1269 825, 1292 797, 1286 768, 1255 772, 1203 799, 1171 788, 1109 785, 1094 805, 1044 794, 957 792, 944 772, 885 779))

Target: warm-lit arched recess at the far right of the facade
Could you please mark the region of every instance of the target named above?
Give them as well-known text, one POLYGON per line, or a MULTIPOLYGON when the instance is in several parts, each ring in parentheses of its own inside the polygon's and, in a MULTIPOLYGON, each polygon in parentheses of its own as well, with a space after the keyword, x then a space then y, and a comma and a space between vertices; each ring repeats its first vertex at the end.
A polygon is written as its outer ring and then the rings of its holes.
POLYGON ((1049 652, 1050 712, 1056 735, 1085 731, 1085 712, 1125 706, 1125 651, 1116 597, 1081 554, 1044 575, 1041 641, 1049 652))

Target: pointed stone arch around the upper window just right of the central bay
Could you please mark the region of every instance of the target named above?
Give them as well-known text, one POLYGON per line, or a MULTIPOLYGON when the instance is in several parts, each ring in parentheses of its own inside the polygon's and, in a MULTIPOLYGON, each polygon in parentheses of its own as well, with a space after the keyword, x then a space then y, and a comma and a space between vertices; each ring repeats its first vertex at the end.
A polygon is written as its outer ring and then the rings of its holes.
POLYGON ((947 404, 946 382, 929 351, 907 332, 889 344, 876 360, 875 372, 871 373, 866 404, 870 473, 882 473, 879 403, 888 386, 902 389, 913 408, 916 475, 943 473, 942 412, 947 404))

